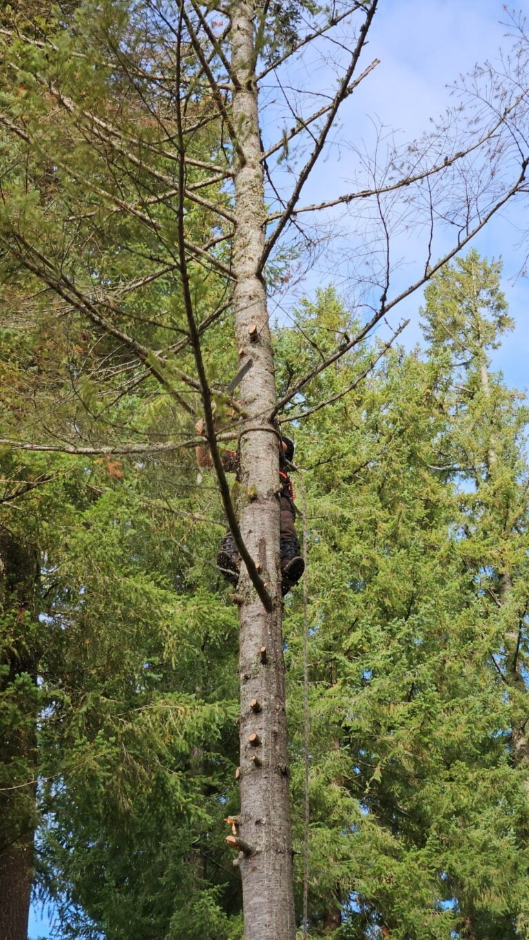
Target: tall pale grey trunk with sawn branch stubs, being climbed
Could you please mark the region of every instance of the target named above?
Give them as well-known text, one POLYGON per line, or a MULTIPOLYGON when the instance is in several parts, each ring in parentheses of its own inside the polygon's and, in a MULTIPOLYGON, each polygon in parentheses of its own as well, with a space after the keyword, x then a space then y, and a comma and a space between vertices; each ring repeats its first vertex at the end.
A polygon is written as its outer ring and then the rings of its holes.
POLYGON ((253 367, 241 384, 247 419, 241 435, 240 525, 242 538, 260 565, 272 597, 272 612, 268 613, 242 572, 241 838, 253 849, 252 854, 240 855, 244 936, 245 940, 293 940, 296 928, 279 589, 278 440, 268 417, 276 393, 266 291, 260 273, 265 205, 253 66, 254 8, 235 2, 231 16, 233 123, 240 141, 235 172, 235 324, 241 359, 250 355, 253 359, 253 367), (257 338, 252 341, 254 326, 257 338))

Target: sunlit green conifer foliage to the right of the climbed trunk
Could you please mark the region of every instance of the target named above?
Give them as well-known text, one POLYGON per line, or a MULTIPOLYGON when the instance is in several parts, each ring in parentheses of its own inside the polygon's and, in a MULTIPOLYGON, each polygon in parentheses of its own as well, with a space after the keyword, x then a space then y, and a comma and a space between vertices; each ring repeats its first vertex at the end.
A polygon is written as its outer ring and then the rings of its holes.
MULTIPOLYGON (((336 936, 524 935, 526 413, 484 371, 509 323, 498 278, 475 254, 445 269, 427 293, 428 356, 393 352, 296 427, 309 496, 311 935, 332 931, 340 904, 336 936), (465 366, 443 343, 447 324, 467 360, 472 350, 465 366)), ((325 308, 321 328, 318 307, 305 309, 300 333, 321 342, 325 308)), ((362 355, 324 373, 303 405, 347 387, 362 355)), ((295 758, 299 598, 289 607, 295 758)), ((303 805, 297 760, 292 784, 303 805)), ((301 818, 295 834, 301 852, 301 818)))

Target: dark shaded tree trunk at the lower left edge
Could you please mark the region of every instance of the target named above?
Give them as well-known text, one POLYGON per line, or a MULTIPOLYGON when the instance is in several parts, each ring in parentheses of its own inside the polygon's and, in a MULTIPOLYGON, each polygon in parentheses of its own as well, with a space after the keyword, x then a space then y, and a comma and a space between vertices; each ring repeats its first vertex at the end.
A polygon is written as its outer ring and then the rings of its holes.
POLYGON ((15 624, 12 643, 0 653, 5 671, 0 792, 0 937, 26 940, 33 878, 35 774, 37 770, 35 697, 27 694, 37 678, 38 653, 26 634, 36 614, 39 567, 35 551, 9 535, 0 536, 0 610, 15 624), (18 687, 19 683, 22 683, 18 687), (12 789, 8 789, 11 787, 12 789))

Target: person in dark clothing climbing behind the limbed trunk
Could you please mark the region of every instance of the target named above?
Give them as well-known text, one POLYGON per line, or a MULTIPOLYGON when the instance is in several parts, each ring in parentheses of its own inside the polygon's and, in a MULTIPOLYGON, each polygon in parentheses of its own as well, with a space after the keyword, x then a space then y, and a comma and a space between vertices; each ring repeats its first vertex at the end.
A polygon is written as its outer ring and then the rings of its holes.
MULTIPOLYGON (((202 418, 196 422, 195 430, 198 434, 204 433, 202 418)), ((280 531, 279 554, 281 558, 281 591, 283 596, 288 594, 290 587, 294 587, 300 580, 304 571, 304 562, 301 556, 300 542, 296 534, 297 510, 294 503, 295 493, 292 481, 288 476, 288 465, 294 456, 294 442, 280 435, 279 451, 279 500, 280 500, 280 531)), ((201 468, 211 467, 213 461, 208 446, 195 447, 196 462, 201 468)), ((226 473, 235 473, 237 479, 241 478, 241 461, 239 451, 226 450, 223 454, 223 466, 226 473)), ((241 571, 241 556, 231 531, 228 529, 217 555, 217 566, 233 587, 239 583, 241 571)))

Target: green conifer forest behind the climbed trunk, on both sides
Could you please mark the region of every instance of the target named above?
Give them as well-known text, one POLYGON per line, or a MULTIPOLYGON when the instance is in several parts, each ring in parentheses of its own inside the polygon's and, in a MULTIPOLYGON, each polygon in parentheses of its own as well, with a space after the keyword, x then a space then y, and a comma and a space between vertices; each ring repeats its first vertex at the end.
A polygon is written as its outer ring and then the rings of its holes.
MULTIPOLYGON (((226 141, 196 85, 175 181, 167 37, 130 5, 21 16, 0 15, 0 901, 26 917, 31 887, 65 940, 237 940, 238 606, 189 341, 222 449, 226 141)), ((301 255, 272 256, 270 292, 301 255)), ((412 351, 332 287, 272 324, 307 555, 283 623, 300 936, 529 936, 527 407, 490 363, 501 264, 425 280, 412 351)))

